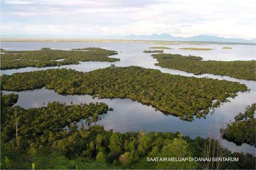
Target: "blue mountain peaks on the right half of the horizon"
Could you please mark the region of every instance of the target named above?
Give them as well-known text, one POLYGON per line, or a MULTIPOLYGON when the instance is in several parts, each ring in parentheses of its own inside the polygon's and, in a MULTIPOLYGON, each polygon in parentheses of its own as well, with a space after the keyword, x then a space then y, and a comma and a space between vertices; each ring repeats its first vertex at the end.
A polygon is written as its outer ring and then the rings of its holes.
POLYGON ((193 37, 174 37, 170 34, 152 34, 152 35, 135 35, 131 34, 125 36, 125 39, 131 40, 175 40, 175 41, 215 41, 215 42, 252 42, 255 43, 256 39, 245 40, 241 38, 224 38, 209 35, 197 35, 193 37))

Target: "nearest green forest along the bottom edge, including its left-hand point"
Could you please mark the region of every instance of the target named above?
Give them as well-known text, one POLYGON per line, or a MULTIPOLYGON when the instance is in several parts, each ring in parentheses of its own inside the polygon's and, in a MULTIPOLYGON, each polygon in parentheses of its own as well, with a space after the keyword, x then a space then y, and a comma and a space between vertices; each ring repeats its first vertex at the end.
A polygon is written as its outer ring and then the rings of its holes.
POLYGON ((1 93, 1 169, 255 169, 251 154, 231 153, 212 137, 190 139, 179 132, 119 133, 83 126, 99 119, 104 103, 23 109, 17 95, 1 93), (4 115, 2 117, 2 115, 4 115), (89 120, 91 122, 92 120, 89 120), (73 123, 72 125, 70 123, 73 123), (65 126, 69 130, 65 130, 65 126), (209 148, 209 149, 208 149, 209 148), (239 161, 147 161, 148 157, 225 157, 239 161))

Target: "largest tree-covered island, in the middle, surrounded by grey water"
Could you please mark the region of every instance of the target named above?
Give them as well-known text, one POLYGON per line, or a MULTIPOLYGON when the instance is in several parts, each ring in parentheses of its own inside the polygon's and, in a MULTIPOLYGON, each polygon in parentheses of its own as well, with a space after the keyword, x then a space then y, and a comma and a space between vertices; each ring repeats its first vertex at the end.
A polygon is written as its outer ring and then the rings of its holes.
POLYGON ((54 89, 59 94, 97 94, 101 98, 130 98, 192 121, 210 108, 247 91, 226 80, 184 77, 136 66, 98 69, 88 73, 67 69, 24 72, 1 77, 4 90, 54 89))

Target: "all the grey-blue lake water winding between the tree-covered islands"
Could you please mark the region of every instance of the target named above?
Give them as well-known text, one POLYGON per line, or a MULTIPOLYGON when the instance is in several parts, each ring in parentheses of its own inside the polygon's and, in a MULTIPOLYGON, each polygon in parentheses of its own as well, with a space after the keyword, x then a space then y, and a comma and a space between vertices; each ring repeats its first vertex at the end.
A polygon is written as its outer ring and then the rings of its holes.
MULTIPOLYGON (((149 43, 97 43, 97 42, 1 42, 1 48, 7 50, 38 50, 42 47, 49 47, 52 49, 70 49, 70 48, 84 48, 84 47, 100 47, 110 50, 116 50, 119 54, 111 57, 120 58, 117 62, 81 62, 79 65, 64 65, 61 67, 47 67, 47 68, 20 68, 12 70, 3 70, 2 74, 13 74, 16 72, 46 70, 49 68, 72 68, 77 71, 92 71, 98 68, 106 68, 111 64, 116 66, 137 65, 144 68, 159 69, 163 73, 180 74, 184 76, 195 76, 192 73, 185 71, 178 71, 168 68, 161 68, 155 66, 156 59, 153 59, 149 53, 143 53, 148 47, 152 46, 166 46, 174 49, 165 50, 165 53, 182 54, 182 55, 196 55, 203 57, 204 60, 252 60, 255 59, 256 48, 253 45, 226 45, 233 49, 221 49, 225 45, 155 45, 149 43), (183 47, 195 48, 215 48, 212 51, 190 51, 179 50, 183 47), (122 52, 120 52, 122 51, 122 52)), ((238 93, 235 99, 230 99, 230 102, 224 103, 220 108, 216 108, 213 114, 206 116, 206 119, 195 119, 193 122, 186 122, 180 120, 178 117, 172 115, 164 115, 160 111, 155 111, 151 106, 142 105, 137 101, 131 99, 92 99, 90 95, 74 95, 62 96, 55 93, 53 90, 45 88, 36 89, 32 91, 15 92, 19 94, 19 100, 16 105, 23 108, 38 108, 46 106, 47 102, 60 101, 70 104, 89 103, 89 102, 105 102, 109 107, 114 108, 114 111, 109 111, 104 119, 97 122, 97 124, 104 125, 105 130, 113 129, 124 133, 126 131, 140 131, 142 129, 149 131, 179 131, 183 135, 188 135, 192 138, 196 136, 208 137, 212 129, 215 129, 214 136, 218 136, 221 127, 225 127, 227 122, 234 121, 234 116, 239 112, 244 112, 247 105, 256 102, 256 82, 251 80, 241 80, 228 76, 218 76, 212 74, 202 74, 195 77, 210 77, 215 79, 226 79, 230 81, 240 82, 250 88, 250 92, 238 93), (43 103, 45 102, 45 105, 43 103)), ((4 91, 5 94, 12 92, 4 91)), ((83 121, 81 121, 83 122, 83 121)), ((79 125, 81 125, 79 122, 79 125)), ((255 156, 255 147, 243 144, 236 146, 232 142, 222 140, 222 144, 228 147, 233 152, 252 153, 255 156)))

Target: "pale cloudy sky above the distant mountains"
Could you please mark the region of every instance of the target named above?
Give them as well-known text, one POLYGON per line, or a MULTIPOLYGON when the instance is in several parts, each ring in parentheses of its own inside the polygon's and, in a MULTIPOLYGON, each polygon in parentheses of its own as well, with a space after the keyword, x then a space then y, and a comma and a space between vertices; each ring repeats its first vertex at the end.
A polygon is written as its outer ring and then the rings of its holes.
POLYGON ((256 0, 0 0, 0 31, 256 38, 256 0))

